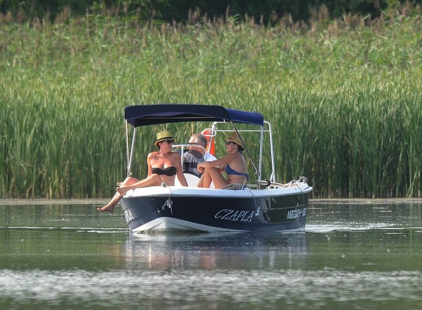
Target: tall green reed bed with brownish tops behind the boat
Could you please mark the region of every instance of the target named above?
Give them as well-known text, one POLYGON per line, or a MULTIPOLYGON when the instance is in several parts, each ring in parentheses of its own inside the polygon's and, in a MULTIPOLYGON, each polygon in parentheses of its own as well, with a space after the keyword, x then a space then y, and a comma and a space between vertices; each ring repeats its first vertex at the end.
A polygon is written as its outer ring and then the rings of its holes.
MULTIPOLYGON (((420 197, 421 21, 413 8, 309 27, 0 23, 0 197, 111 196, 126 175, 124 107, 158 102, 262 113, 278 181, 305 175, 314 197, 420 197)), ((138 136, 134 176, 163 128, 138 136)), ((166 128, 180 142, 203 129, 166 128)))

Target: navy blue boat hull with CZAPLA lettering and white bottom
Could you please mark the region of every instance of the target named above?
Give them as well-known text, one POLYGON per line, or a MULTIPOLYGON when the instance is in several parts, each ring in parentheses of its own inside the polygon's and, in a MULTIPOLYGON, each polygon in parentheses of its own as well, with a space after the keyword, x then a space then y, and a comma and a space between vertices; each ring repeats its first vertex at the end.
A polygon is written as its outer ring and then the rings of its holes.
POLYGON ((131 231, 270 232, 304 230, 308 200, 309 192, 266 197, 134 196, 122 198, 121 205, 131 231))

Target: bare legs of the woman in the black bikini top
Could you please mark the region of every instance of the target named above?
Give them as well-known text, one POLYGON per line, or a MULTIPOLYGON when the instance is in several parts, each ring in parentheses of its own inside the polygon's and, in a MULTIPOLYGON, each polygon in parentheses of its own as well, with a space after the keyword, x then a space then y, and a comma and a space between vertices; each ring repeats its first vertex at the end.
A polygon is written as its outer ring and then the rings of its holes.
POLYGON ((162 182, 161 178, 157 174, 152 174, 146 179, 138 180, 133 177, 127 177, 120 187, 116 188, 116 193, 113 196, 112 200, 109 203, 104 205, 102 208, 97 208, 99 212, 114 212, 116 204, 122 199, 125 193, 129 189, 134 189, 138 187, 148 187, 148 186, 157 186, 162 182))

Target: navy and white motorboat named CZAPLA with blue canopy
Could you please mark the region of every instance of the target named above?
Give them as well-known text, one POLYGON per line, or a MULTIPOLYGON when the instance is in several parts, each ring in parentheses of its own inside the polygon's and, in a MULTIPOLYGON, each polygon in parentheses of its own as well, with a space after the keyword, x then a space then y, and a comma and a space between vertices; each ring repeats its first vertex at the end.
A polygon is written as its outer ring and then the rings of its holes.
MULTIPOLYGON (((251 155, 248 143, 244 143, 245 158, 255 172, 254 180, 251 177, 246 185, 199 188, 196 187, 199 178, 184 170, 189 186, 176 182, 174 186, 163 183, 128 190, 120 203, 132 233, 304 231, 312 187, 304 176, 288 183, 277 182, 271 124, 260 113, 198 104, 134 105, 125 108, 125 122, 128 176, 132 170, 136 132, 144 126, 206 122, 210 124, 203 131, 208 133, 208 147, 228 133, 242 132, 241 136, 258 137, 253 140, 258 148, 254 153, 257 155, 251 155), (257 159, 252 160, 252 156, 257 159), (263 164, 269 167, 263 169, 263 164)), ((173 145, 181 148, 180 152, 185 146, 187 143, 173 145)))

